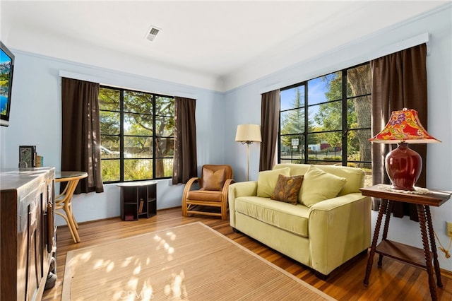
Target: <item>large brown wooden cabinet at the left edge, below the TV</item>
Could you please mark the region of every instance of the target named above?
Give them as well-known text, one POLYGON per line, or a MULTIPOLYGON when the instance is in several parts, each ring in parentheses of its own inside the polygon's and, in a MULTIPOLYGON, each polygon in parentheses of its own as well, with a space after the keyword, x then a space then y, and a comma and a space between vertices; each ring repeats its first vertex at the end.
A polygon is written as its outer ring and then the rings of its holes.
POLYGON ((41 300, 56 250, 54 174, 0 170, 1 300, 41 300))

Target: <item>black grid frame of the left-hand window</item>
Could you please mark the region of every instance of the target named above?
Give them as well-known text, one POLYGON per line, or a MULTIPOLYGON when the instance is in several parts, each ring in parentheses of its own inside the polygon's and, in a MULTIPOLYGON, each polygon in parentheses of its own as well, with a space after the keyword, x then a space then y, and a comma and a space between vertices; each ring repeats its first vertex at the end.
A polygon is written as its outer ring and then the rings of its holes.
MULTIPOLYGON (((104 181, 104 184, 111 184, 111 183, 121 183, 121 182, 136 182, 136 181, 146 181, 146 180, 155 180, 155 179, 170 179, 172 176, 169 175, 167 177, 156 177, 156 165, 157 165, 157 160, 163 160, 163 159, 172 159, 174 160, 174 149, 173 149, 173 155, 172 156, 159 156, 156 153, 156 146, 157 146, 157 140, 160 138, 172 138, 174 141, 174 96, 171 95, 163 95, 163 94, 159 94, 159 93, 150 93, 147 91, 143 91, 143 90, 133 90, 133 89, 129 89, 129 88, 119 88, 119 87, 114 87, 114 86, 109 86, 109 85, 100 85, 100 89, 109 89, 109 90, 116 90, 119 92, 119 111, 118 110, 105 110, 105 109, 100 109, 100 113, 102 114, 102 112, 114 112, 114 113, 119 113, 119 134, 105 134, 105 133, 100 133, 100 137, 101 137, 101 141, 102 141, 102 137, 103 136, 114 136, 114 137, 118 137, 119 139, 119 158, 101 158, 101 170, 102 170, 102 162, 105 160, 119 160, 119 180, 114 180, 114 181, 104 181), (137 113, 137 112, 131 112, 131 111, 125 111, 124 110, 124 93, 126 92, 131 92, 131 93, 143 93, 143 94, 147 94, 150 95, 151 97, 151 101, 152 101, 152 112, 150 113, 137 113), (172 106, 173 106, 173 114, 172 115, 164 115, 164 114, 156 114, 157 110, 157 105, 158 105, 158 100, 157 98, 167 98, 172 100, 172 106), (139 114, 139 115, 147 115, 147 116, 151 116, 153 119, 152 122, 152 135, 132 135, 132 134, 125 134, 124 132, 124 115, 125 114, 139 114), (156 124, 157 124, 157 117, 162 117, 162 118, 169 118, 173 120, 173 129, 172 129, 172 135, 171 136, 161 136, 161 135, 157 135, 156 133, 156 124), (127 137, 145 137, 145 138, 150 138, 153 141, 153 146, 152 146, 152 155, 148 156, 148 157, 144 157, 144 158, 125 158, 125 153, 124 153, 124 140, 127 137), (144 179, 131 179, 131 180, 126 180, 124 179, 124 162, 126 162, 126 160, 133 160, 133 159, 139 159, 139 160, 152 160, 152 178, 144 178, 144 179)), ((102 121, 101 121, 102 123, 102 121)), ((102 145, 102 144, 101 144, 102 145)), ((174 163, 174 161, 173 161, 174 163)))

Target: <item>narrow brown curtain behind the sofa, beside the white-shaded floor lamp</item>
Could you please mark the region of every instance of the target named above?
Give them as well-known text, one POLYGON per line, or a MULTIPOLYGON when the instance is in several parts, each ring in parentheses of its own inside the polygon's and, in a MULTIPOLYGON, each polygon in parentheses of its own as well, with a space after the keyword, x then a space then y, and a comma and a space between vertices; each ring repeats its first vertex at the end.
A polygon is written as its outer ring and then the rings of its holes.
POLYGON ((275 165, 276 143, 280 117, 280 90, 262 94, 261 99, 261 157, 259 171, 271 170, 275 165))

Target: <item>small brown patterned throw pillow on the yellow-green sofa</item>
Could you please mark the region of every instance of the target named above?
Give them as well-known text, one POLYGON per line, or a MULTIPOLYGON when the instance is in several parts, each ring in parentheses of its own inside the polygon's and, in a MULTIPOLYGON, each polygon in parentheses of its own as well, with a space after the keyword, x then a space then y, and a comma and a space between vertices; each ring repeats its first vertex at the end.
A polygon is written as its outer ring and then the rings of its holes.
POLYGON ((292 177, 279 175, 278 182, 276 182, 275 191, 273 191, 270 199, 297 205, 299 189, 302 188, 302 183, 302 175, 292 177))

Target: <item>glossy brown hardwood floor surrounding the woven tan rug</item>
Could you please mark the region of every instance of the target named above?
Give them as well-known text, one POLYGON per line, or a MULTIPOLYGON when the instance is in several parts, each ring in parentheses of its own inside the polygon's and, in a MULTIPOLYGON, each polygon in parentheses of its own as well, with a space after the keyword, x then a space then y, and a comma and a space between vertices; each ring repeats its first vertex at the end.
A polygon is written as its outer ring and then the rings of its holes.
MULTIPOLYGON (((337 268, 326 281, 323 281, 317 278, 311 269, 297 261, 275 252, 246 235, 233 232, 229 220, 203 216, 184 218, 181 208, 161 210, 152 218, 137 221, 125 222, 120 218, 112 218, 82 223, 78 230, 81 237, 81 242, 78 244, 73 243, 66 226, 59 227, 57 230, 58 281, 54 288, 44 291, 42 300, 61 300, 67 252, 196 221, 205 223, 210 228, 242 244, 252 252, 284 268, 285 271, 337 300, 430 300, 427 272, 420 268, 400 263, 388 257, 383 259, 383 268, 378 268, 376 264, 378 256, 375 256, 369 286, 365 287, 362 280, 367 265, 367 255, 361 254, 337 268)), ((441 255, 439 254, 439 256, 441 255)), ((446 273, 441 279, 444 287, 437 289, 439 300, 452 300, 451 273, 446 273)), ((300 296, 300 300, 302 300, 302 296, 300 296)))

